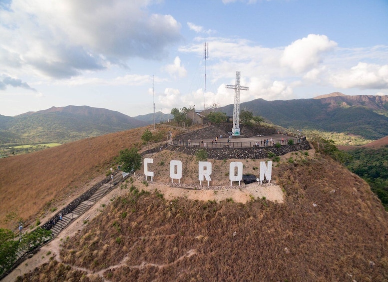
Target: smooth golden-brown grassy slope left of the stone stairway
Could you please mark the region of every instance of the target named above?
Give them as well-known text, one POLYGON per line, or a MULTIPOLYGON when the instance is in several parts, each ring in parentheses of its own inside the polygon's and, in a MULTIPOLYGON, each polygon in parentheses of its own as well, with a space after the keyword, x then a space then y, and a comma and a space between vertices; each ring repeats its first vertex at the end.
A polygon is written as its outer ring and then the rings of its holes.
POLYGON ((0 227, 17 227, 4 223, 7 214, 16 213, 24 222, 30 222, 57 208, 63 200, 81 194, 89 181, 105 176, 120 150, 139 145, 145 129, 111 133, 0 159, 0 227))

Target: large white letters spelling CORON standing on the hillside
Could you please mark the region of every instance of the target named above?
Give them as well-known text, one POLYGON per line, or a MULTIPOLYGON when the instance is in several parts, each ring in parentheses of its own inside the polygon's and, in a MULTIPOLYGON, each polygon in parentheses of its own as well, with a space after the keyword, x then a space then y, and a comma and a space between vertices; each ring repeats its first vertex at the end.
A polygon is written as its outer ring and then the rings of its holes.
MULTIPOLYGON (((151 177, 151 181, 153 181, 154 173, 152 171, 148 171, 148 164, 153 164, 154 159, 145 158, 143 160, 144 164, 144 175, 145 179, 147 177, 151 177)), ((202 185, 202 181, 206 180, 207 185, 209 186, 209 182, 211 181, 210 175, 212 174, 212 163, 211 162, 198 162, 198 180, 200 185, 202 185)), ((177 160, 170 161, 170 177, 171 183, 174 183, 174 179, 177 179, 179 183, 181 183, 182 178, 182 162, 177 160)), ((267 179, 268 182, 271 182, 272 177, 272 161, 268 161, 267 164, 265 162, 260 162, 260 177, 257 181, 262 181, 267 179)), ((239 185, 241 180, 243 179, 243 163, 242 162, 231 162, 229 164, 229 180, 230 186, 232 186, 232 181, 238 181, 239 185)))

